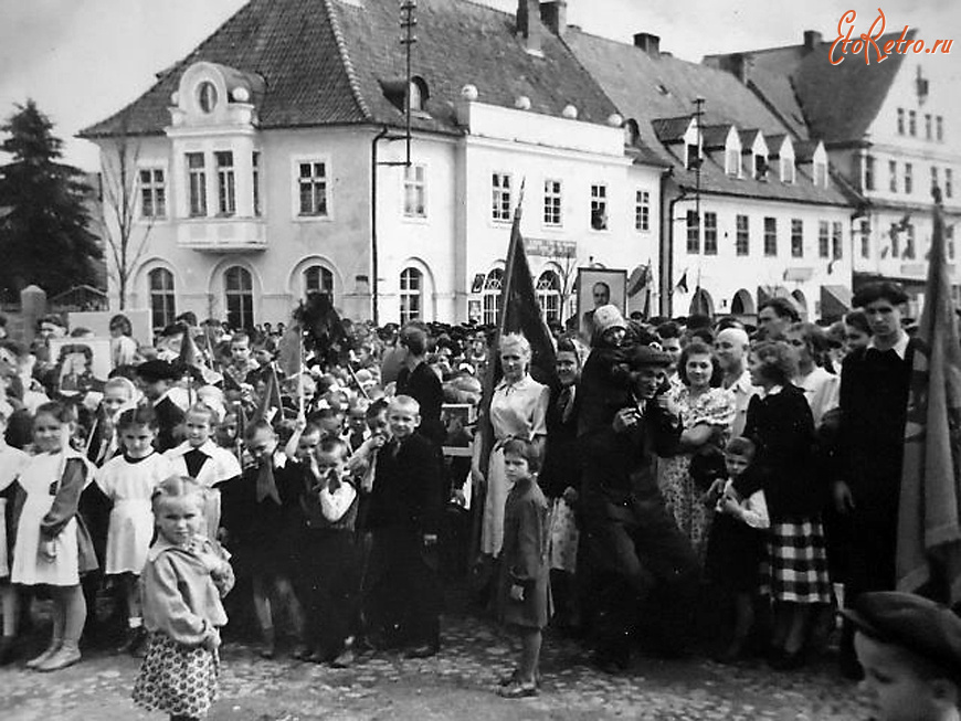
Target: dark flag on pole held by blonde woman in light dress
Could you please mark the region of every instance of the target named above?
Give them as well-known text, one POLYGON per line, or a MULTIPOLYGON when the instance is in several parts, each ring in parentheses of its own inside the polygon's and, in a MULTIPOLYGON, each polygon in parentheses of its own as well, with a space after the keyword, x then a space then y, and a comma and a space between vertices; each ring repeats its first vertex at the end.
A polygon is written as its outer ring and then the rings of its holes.
MULTIPOLYGON (((510 229, 510 245, 507 250, 507 264, 504 273, 504 285, 500 289, 500 312, 497 319, 497 336, 490 351, 492 362, 487 363, 484 396, 480 400, 480 470, 487 475, 487 462, 494 445, 494 430, 490 426, 489 410, 494 388, 504 375, 500 369, 500 356, 497 348, 500 337, 509 332, 521 332, 530 343, 530 375, 536 381, 549 386, 557 386, 557 368, 555 347, 550 330, 543 321, 540 304, 534 290, 534 279, 524 250, 524 238, 520 235, 520 205, 524 202, 524 187, 520 199, 514 211, 514 224, 510 229)), ((474 548, 479 547, 480 521, 484 512, 483 494, 472 501, 474 509, 474 548)))

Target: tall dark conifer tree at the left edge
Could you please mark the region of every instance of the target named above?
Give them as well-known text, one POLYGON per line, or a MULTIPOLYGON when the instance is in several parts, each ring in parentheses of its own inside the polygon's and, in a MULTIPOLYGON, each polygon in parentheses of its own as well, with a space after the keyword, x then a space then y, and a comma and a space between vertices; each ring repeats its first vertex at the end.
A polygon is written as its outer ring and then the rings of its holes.
POLYGON ((96 285, 103 257, 89 232, 83 172, 60 162, 63 142, 33 100, 17 105, 0 131, 0 148, 13 161, 0 166, 0 293, 13 299, 34 284, 50 296, 76 285, 96 285))

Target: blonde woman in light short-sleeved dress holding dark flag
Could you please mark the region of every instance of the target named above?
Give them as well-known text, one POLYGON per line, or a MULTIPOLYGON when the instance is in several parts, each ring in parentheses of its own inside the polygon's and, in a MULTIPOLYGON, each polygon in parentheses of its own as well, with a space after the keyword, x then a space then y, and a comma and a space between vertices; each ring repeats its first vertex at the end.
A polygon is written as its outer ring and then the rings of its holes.
MULTIPOLYGON (((507 476, 501 446, 510 437, 532 442, 542 453, 547 436, 547 407, 550 391, 530 378, 530 343, 520 333, 500 339, 500 365, 504 378, 494 389, 487 422, 493 428, 494 446, 482 470, 480 454, 474 454, 472 476, 475 484, 486 484, 480 528, 480 552, 497 558, 504 541, 504 506, 507 501, 507 476)), ((475 448, 479 450, 480 444, 475 448)))

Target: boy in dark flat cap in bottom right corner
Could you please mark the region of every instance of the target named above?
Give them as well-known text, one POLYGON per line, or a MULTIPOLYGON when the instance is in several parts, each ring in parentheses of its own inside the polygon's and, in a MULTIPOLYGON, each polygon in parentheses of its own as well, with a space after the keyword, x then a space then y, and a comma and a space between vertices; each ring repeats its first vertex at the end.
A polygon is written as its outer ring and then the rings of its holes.
POLYGON ((958 721, 961 618, 910 593, 878 591, 842 612, 855 628, 877 721, 958 721))

